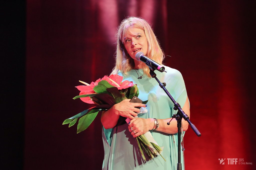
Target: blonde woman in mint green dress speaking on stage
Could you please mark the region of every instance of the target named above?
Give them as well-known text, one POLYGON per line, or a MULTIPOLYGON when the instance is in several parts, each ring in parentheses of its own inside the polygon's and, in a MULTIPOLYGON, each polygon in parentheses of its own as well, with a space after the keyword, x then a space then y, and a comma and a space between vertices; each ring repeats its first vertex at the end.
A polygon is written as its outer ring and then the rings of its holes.
MULTIPOLYGON (((101 117, 103 125, 104 162, 102 169, 177 169, 177 121, 170 121, 173 114, 173 103, 165 92, 159 87, 157 81, 151 78, 149 68, 135 55, 143 52, 146 56, 162 64, 164 54, 148 23, 137 17, 124 19, 117 33, 116 65, 112 74, 123 76, 123 80, 133 81, 139 89, 142 101, 148 100, 147 105, 130 103, 130 99, 115 104, 101 117), (137 114, 136 107, 146 107, 148 112, 137 114), (130 118, 130 124, 122 124, 120 116, 130 118), (134 118, 138 116, 137 118, 134 118), (155 119, 154 119, 155 118, 155 119), (157 128, 155 120, 158 120, 157 128), (154 129, 154 130, 153 130, 154 129), (135 137, 150 131, 160 147, 162 155, 144 162, 135 137)), ((180 104, 189 116, 189 101, 184 80, 179 71, 165 66, 167 73, 155 71, 161 82, 166 82, 166 89, 180 104)), ((186 131, 188 123, 183 119, 183 130, 186 131)), ((182 156, 183 160, 183 156, 182 156)), ((184 168, 183 161, 182 167, 184 168)))

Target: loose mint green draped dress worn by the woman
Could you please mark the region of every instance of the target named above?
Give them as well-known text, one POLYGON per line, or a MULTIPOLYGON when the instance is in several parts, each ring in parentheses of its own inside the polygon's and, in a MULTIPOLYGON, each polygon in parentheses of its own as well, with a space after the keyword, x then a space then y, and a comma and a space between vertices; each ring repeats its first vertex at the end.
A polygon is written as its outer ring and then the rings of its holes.
MULTIPOLYGON (((187 92, 185 83, 181 73, 178 70, 165 66, 166 72, 159 72, 155 70, 157 78, 161 82, 166 83, 166 89, 173 96, 173 98, 184 106, 187 92)), ((139 76, 143 75, 142 69, 137 69, 139 76)), ((145 114, 139 114, 141 118, 158 118, 166 119, 172 117, 173 114, 177 113, 173 109, 173 103, 165 94, 163 89, 159 87, 159 84, 154 78, 147 78, 143 76, 142 79, 138 79, 138 74, 135 70, 128 72, 127 76, 124 76, 122 72, 119 72, 120 76, 123 76, 124 80, 133 81, 137 84, 139 89, 139 96, 142 101, 148 100, 147 110, 145 114)), ((161 126, 161 125, 159 125, 161 126)), ((150 131, 153 138, 156 140, 160 147, 164 147, 162 151, 163 157, 166 162, 159 155, 152 160, 144 162, 136 139, 132 137, 128 130, 127 123, 119 122, 117 126, 112 129, 102 129, 102 138, 104 145, 104 161, 102 169, 104 170, 130 170, 130 169, 147 169, 147 170, 170 170, 177 169, 178 162, 178 138, 177 133, 174 134, 174 141, 172 134, 159 132, 155 130, 150 131)), ((145 154, 146 156, 146 154, 145 154)), ((183 154, 181 151, 181 162, 182 169, 183 165, 183 154)))

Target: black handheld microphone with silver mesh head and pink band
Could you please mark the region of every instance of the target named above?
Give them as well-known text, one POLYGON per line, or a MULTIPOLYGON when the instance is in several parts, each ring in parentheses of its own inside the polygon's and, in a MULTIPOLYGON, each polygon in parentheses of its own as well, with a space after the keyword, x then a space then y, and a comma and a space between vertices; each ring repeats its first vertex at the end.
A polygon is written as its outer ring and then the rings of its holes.
POLYGON ((143 52, 138 52, 135 57, 138 61, 142 61, 143 63, 145 63, 153 71, 154 70, 158 70, 160 72, 165 71, 164 66, 162 66, 162 65, 158 64, 157 62, 155 62, 154 60, 148 58, 147 56, 144 55, 143 52))

